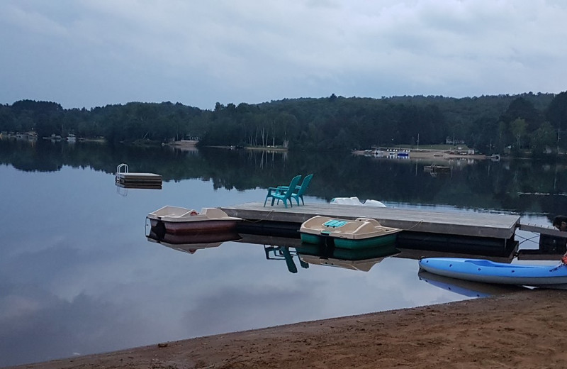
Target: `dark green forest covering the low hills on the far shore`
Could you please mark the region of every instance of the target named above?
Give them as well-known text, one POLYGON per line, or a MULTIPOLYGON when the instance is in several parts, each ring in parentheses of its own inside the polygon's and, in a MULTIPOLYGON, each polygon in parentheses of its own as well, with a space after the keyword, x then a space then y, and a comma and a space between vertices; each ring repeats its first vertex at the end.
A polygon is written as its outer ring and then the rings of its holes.
POLYGON ((105 137, 110 143, 167 142, 188 136, 202 145, 352 150, 371 146, 464 141, 484 153, 567 149, 567 92, 467 98, 336 97, 215 105, 131 102, 62 109, 48 101, 0 104, 0 131, 105 137), (419 141, 419 142, 418 142, 419 141))

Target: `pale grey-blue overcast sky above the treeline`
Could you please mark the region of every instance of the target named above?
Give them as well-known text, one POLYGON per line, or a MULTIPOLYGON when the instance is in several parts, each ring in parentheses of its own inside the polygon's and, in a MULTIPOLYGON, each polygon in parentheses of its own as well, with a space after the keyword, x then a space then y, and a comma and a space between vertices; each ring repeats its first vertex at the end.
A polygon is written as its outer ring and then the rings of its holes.
POLYGON ((567 89, 563 0, 0 0, 0 103, 567 89))

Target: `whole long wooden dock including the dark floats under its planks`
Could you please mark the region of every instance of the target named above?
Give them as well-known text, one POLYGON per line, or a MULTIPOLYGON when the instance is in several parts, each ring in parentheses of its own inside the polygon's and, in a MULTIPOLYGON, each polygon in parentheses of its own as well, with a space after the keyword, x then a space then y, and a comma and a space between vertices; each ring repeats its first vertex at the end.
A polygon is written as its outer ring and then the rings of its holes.
MULTIPOLYGON (((378 220, 383 226, 403 229, 398 236, 405 243, 451 244, 452 249, 481 246, 512 248, 520 216, 476 212, 441 212, 392 207, 343 204, 305 204, 286 209, 283 204, 269 206, 252 202, 221 207, 229 216, 248 221, 249 226, 287 227, 298 230, 299 225, 315 215, 333 218, 378 220)), ((515 245, 514 245, 515 244, 515 245)))

